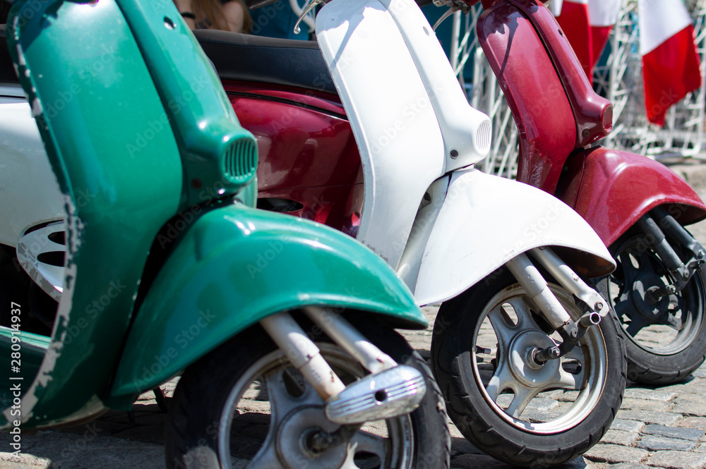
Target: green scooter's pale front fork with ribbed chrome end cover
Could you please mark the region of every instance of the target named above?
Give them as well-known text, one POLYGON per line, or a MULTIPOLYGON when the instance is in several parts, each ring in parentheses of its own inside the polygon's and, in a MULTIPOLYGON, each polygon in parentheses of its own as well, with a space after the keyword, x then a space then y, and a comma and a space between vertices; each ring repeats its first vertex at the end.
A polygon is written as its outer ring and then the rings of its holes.
MULTIPOLYGON (((304 307, 304 313, 360 365, 371 372, 345 386, 292 315, 280 312, 260 324, 287 354, 299 372, 325 402, 328 420, 352 428, 370 420, 412 412, 424 397, 424 376, 413 367, 398 365, 366 339, 345 318, 321 307, 304 307)), ((337 435, 327 435, 329 443, 337 435)))

